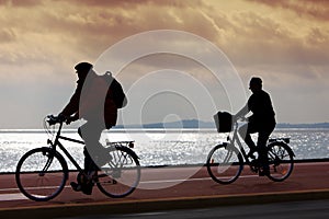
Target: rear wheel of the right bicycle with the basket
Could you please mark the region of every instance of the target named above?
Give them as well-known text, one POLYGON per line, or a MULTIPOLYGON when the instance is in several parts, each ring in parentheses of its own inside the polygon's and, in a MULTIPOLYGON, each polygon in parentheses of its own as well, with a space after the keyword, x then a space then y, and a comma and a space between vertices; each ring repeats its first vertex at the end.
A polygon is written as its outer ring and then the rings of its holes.
POLYGON ((275 182, 286 180, 294 169, 294 152, 284 142, 273 142, 268 146, 270 163, 269 178, 275 182))

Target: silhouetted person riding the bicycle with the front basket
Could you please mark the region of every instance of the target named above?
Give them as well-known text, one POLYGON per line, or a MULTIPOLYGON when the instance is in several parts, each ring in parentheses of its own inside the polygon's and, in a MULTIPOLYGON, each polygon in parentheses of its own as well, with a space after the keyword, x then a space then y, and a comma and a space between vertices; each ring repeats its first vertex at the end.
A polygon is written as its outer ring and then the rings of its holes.
POLYGON ((272 106, 269 93, 262 90, 262 80, 260 78, 251 78, 249 89, 252 95, 249 97, 245 107, 242 107, 234 117, 235 119, 246 116, 249 112, 252 115, 248 117, 248 123, 239 128, 239 135, 250 148, 249 157, 253 157, 253 152, 258 151, 259 161, 262 165, 260 175, 268 175, 269 160, 266 153, 266 142, 271 132, 276 125, 275 113, 272 106), (257 146, 251 139, 250 134, 258 132, 257 146))

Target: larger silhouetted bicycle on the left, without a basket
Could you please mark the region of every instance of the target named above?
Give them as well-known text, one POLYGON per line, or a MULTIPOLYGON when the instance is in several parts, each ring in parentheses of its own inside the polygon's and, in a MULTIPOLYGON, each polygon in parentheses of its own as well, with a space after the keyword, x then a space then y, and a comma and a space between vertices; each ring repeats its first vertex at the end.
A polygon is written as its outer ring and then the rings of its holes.
POLYGON ((113 198, 125 197, 132 194, 140 180, 140 165, 137 154, 131 149, 134 141, 118 141, 106 143, 109 162, 95 174, 88 175, 77 161, 61 145, 59 139, 76 143, 81 140, 60 135, 64 120, 47 116, 44 120, 45 130, 53 136, 47 147, 27 151, 19 161, 15 180, 20 191, 32 200, 49 200, 55 198, 66 186, 69 170, 65 158, 58 148, 78 170, 78 182, 91 181, 106 196, 113 198), (58 127, 55 127, 59 125, 58 127))

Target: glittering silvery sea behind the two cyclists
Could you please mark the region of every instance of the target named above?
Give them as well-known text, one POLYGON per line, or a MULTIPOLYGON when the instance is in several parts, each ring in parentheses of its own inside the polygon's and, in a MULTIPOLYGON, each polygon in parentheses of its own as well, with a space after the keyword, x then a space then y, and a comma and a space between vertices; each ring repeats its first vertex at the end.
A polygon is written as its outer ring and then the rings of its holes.
MULTIPOLYGON (((81 140, 77 130, 63 136, 81 140)), ((29 150, 46 147, 54 135, 36 129, 0 130, 0 173, 13 173, 21 157, 29 150)), ((257 135, 252 138, 256 140, 257 135)), ((328 159, 329 128, 275 129, 271 138, 291 138, 296 160, 328 159)), ((225 142, 227 134, 214 129, 113 129, 102 134, 100 141, 134 141, 134 151, 141 166, 204 164, 211 149, 225 142)), ((83 145, 61 140, 65 148, 83 166, 83 145)), ((246 145, 243 145, 246 147, 246 145)), ((247 147, 246 147, 247 148, 247 147)), ((69 169, 73 165, 68 161, 69 169)))

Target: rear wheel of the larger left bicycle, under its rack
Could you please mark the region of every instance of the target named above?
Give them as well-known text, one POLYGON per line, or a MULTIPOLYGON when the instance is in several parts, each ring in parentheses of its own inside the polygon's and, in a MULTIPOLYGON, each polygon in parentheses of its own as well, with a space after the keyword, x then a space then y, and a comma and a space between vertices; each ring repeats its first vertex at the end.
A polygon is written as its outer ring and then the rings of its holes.
POLYGON ((98 173, 99 189, 112 197, 132 194, 139 184, 140 165, 137 155, 128 148, 118 147, 110 152, 112 160, 98 173))

